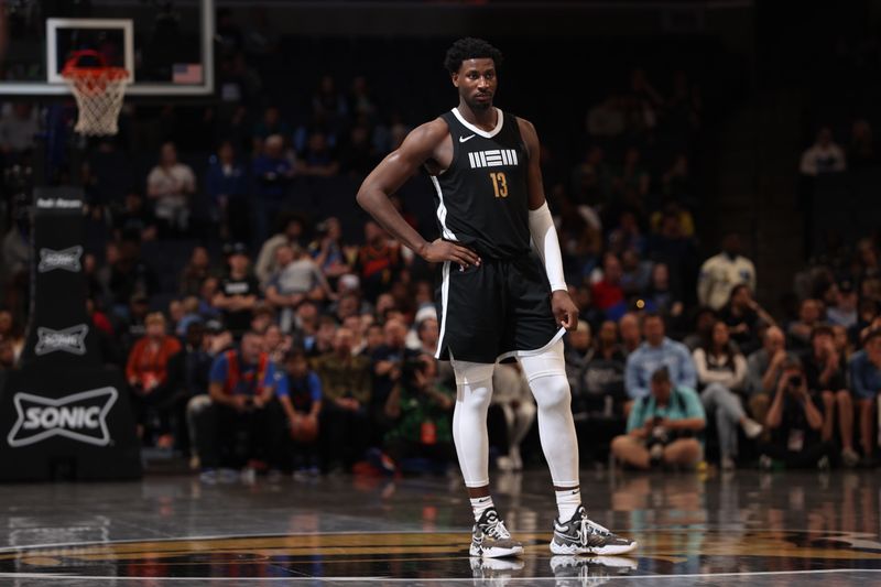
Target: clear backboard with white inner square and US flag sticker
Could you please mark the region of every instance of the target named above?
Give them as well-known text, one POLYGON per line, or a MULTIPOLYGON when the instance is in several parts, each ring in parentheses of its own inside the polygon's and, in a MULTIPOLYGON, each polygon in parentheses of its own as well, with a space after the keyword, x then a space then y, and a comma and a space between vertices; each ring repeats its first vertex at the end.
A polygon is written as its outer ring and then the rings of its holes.
POLYGON ((126 67, 129 96, 210 94, 214 10, 214 0, 6 0, 0 96, 69 94, 61 70, 81 50, 126 67))

